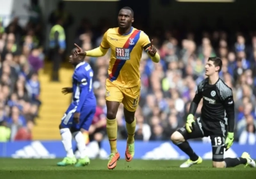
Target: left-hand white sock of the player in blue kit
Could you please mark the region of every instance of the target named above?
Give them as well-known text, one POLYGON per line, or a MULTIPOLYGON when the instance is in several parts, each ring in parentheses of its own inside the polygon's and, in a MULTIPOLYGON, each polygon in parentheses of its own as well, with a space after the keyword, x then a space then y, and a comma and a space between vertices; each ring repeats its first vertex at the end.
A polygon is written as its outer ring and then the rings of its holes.
POLYGON ((72 134, 69 128, 61 128, 60 134, 62 137, 63 146, 67 152, 67 157, 74 157, 74 152, 72 149, 72 134))

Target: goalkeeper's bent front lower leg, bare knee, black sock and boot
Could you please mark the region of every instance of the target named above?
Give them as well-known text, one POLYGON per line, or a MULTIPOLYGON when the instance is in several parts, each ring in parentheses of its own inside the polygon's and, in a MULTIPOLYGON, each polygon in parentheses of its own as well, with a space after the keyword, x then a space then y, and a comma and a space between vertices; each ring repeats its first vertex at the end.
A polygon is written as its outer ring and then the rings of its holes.
MULTIPOLYGON (((186 130, 185 128, 183 129, 186 130)), ((181 164, 180 167, 190 167, 195 164, 202 163, 203 161, 202 158, 196 155, 196 153, 193 151, 193 149, 189 145, 188 141, 184 139, 184 137, 182 136, 182 134, 180 134, 180 132, 175 131, 171 136, 171 140, 173 141, 174 144, 176 144, 180 148, 180 150, 182 150, 184 153, 186 153, 189 156, 189 159, 183 164, 181 164)))

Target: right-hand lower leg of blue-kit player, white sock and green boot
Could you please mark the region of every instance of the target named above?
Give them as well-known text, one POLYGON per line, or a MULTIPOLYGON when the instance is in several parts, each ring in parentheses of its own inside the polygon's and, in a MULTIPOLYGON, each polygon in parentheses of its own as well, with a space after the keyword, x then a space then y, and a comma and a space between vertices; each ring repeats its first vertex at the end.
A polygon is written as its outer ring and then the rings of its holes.
POLYGON ((76 167, 81 167, 81 166, 87 166, 90 164, 90 159, 86 155, 86 144, 84 143, 84 136, 83 132, 86 132, 86 130, 81 129, 81 131, 72 131, 72 135, 77 143, 77 149, 80 153, 80 159, 78 159, 76 163, 76 167))

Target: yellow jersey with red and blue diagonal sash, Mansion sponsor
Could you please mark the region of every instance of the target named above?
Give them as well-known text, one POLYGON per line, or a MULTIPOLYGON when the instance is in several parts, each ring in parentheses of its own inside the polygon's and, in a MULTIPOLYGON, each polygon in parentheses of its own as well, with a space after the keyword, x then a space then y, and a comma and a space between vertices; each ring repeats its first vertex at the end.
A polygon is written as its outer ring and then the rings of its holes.
POLYGON ((140 59, 143 49, 148 51, 148 36, 134 27, 127 34, 120 35, 118 27, 106 31, 100 46, 111 49, 109 80, 118 86, 131 88, 140 83, 140 59))

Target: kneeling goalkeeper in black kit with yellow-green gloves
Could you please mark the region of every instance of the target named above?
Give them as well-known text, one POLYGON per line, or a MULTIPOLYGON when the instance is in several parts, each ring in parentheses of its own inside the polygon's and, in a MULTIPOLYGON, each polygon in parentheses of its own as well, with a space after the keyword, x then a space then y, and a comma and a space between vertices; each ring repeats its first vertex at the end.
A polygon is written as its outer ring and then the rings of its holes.
POLYGON ((221 66, 220 58, 208 59, 205 65, 207 78, 198 84, 196 95, 189 107, 186 126, 171 136, 173 143, 189 156, 180 167, 202 163, 202 158, 196 155, 187 140, 208 136, 211 137, 212 143, 213 167, 234 167, 239 164, 255 167, 255 162, 246 152, 238 158, 224 159, 224 150, 227 151, 234 141, 235 120, 232 89, 219 77, 221 66), (201 116, 194 120, 194 114, 202 98, 201 116))

